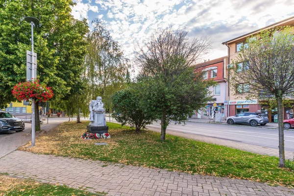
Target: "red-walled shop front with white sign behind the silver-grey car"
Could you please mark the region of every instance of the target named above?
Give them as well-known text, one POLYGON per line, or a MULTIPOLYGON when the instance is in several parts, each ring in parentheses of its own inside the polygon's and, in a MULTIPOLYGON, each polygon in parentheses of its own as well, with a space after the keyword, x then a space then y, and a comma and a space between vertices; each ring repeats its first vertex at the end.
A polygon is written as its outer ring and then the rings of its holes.
POLYGON ((261 106, 257 103, 257 99, 230 100, 229 111, 230 116, 243 112, 261 112, 261 106))

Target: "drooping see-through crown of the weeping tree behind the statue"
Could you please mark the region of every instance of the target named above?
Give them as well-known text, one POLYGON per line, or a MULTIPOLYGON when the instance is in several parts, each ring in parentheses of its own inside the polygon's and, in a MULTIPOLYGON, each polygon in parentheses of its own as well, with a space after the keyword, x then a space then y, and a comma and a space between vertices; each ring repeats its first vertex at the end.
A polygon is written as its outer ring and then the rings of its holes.
POLYGON ((88 80, 90 99, 102 97, 106 110, 111 112, 111 96, 124 88, 125 72, 128 60, 123 57, 123 50, 114 41, 109 31, 98 20, 92 21, 93 31, 87 36, 88 48, 85 58, 85 77, 88 80))

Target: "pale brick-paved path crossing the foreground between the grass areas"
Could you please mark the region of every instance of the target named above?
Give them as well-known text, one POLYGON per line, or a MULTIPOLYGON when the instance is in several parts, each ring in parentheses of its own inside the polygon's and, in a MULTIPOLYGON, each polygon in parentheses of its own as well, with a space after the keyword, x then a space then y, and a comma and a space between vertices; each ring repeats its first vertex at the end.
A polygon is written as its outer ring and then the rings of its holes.
POLYGON ((107 192, 111 196, 294 196, 294 189, 223 177, 191 175, 100 161, 14 151, 0 172, 107 192))

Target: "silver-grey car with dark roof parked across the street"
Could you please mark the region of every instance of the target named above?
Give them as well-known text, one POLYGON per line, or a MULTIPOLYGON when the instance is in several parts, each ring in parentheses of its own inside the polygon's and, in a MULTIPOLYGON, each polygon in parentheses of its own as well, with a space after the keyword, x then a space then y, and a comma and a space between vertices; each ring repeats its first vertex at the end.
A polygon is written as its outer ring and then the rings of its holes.
POLYGON ((228 124, 250 124, 251 126, 266 125, 269 123, 269 119, 266 116, 262 116, 258 113, 244 112, 235 116, 227 118, 228 124))

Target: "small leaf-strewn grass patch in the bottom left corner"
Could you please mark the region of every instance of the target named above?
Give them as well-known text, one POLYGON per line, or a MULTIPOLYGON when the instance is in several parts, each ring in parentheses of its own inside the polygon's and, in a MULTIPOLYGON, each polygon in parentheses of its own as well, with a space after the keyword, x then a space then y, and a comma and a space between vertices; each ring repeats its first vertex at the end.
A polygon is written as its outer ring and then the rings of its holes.
POLYGON ((0 174, 0 196, 102 196, 67 186, 36 182, 32 179, 12 178, 0 174))

